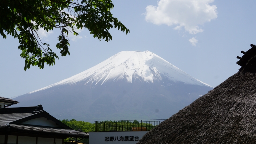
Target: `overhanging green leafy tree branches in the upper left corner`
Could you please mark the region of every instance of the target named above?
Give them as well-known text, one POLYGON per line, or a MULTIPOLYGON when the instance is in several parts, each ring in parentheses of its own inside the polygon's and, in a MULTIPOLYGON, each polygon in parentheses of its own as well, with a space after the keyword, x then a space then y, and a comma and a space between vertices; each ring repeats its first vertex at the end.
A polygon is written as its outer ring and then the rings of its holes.
POLYGON ((42 43, 37 34, 39 28, 46 32, 60 28, 56 47, 61 56, 66 56, 70 54, 68 34, 77 36, 76 29, 87 28, 94 38, 107 42, 112 40, 110 28, 130 32, 112 16, 113 7, 111 0, 0 0, 0 34, 6 38, 7 33, 19 40, 24 70, 30 65, 41 69, 44 63, 55 64, 59 57, 49 44, 42 43))

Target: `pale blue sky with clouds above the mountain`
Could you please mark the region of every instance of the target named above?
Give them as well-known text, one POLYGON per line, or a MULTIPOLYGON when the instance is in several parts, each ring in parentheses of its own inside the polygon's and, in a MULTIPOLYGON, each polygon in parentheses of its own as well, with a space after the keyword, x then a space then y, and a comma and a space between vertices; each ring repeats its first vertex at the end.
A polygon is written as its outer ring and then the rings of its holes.
POLYGON ((83 29, 79 37, 70 37, 70 56, 61 57, 55 48, 60 31, 41 32, 60 57, 53 67, 24 71, 18 40, 0 39, 0 96, 11 98, 59 82, 121 51, 148 50, 215 87, 238 71, 236 56, 256 44, 253 0, 113 0, 113 4, 112 14, 130 33, 111 29, 113 40, 108 43, 83 29))

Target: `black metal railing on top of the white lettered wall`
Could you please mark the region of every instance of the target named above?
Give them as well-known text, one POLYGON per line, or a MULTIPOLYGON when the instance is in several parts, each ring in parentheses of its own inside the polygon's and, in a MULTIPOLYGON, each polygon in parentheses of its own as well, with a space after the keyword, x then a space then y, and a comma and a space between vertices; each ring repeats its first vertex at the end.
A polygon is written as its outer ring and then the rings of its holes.
POLYGON ((128 121, 96 121, 95 132, 150 131, 164 119, 128 120, 128 121))

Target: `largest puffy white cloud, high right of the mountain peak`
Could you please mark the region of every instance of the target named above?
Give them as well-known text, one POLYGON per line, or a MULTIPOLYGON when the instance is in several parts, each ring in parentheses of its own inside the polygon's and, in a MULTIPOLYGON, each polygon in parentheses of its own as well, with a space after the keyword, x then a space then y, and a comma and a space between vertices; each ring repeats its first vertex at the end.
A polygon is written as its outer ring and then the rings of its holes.
POLYGON ((174 29, 185 28, 190 34, 203 32, 203 25, 217 18, 217 6, 210 5, 214 0, 160 0, 158 6, 146 7, 146 20, 154 24, 176 25, 174 29))

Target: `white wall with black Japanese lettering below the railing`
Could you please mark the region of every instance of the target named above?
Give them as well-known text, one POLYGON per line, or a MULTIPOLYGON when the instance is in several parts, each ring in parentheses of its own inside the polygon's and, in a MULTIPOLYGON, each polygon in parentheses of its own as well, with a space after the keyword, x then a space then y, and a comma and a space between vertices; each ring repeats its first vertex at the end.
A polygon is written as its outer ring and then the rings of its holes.
POLYGON ((136 144, 148 131, 132 132, 90 132, 90 144, 125 143, 136 144), (126 138, 126 139, 125 139, 126 138), (128 139, 127 139, 128 138, 128 139))

